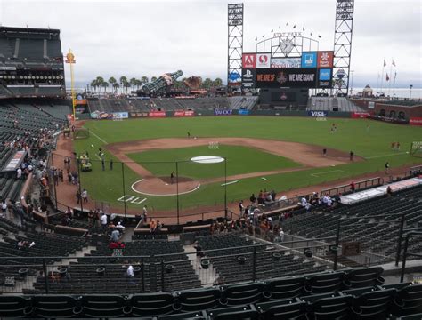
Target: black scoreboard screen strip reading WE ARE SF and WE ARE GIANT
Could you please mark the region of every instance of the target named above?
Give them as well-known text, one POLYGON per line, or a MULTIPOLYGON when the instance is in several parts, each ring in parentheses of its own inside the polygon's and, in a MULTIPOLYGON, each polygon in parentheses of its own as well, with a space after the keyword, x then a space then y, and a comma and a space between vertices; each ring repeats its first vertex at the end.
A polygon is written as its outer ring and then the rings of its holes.
POLYGON ((316 84, 316 68, 256 69, 257 88, 314 88, 316 84))

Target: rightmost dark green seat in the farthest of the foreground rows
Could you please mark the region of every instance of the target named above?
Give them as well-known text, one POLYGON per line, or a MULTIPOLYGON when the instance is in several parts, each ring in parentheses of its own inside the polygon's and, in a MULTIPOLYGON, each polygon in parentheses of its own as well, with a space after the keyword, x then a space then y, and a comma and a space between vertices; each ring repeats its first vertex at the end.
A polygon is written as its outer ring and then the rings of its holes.
POLYGON ((381 276, 383 268, 353 268, 346 275, 345 285, 350 288, 363 288, 374 285, 384 284, 384 278, 381 276))

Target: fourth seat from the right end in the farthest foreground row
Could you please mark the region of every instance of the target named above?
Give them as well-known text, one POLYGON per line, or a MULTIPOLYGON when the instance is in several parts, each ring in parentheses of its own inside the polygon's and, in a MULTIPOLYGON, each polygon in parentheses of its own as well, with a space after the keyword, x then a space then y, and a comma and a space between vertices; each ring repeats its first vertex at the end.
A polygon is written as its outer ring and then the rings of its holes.
POLYGON ((221 303, 228 306, 255 303, 263 297, 264 284, 232 284, 223 287, 221 303))

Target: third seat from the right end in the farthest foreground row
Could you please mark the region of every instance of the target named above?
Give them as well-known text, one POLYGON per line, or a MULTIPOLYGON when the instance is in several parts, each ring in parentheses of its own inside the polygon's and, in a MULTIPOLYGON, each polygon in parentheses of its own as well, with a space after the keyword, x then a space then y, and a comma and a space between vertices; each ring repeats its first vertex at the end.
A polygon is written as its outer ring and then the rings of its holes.
POLYGON ((264 283, 264 298, 280 300, 296 298, 304 293, 304 276, 276 278, 264 283))

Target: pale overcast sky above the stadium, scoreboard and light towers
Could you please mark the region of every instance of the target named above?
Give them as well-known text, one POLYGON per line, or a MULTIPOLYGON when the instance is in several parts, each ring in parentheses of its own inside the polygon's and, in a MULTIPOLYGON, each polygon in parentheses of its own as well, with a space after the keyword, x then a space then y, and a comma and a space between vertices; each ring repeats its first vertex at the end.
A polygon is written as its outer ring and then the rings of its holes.
MULTIPOLYGON (((233 1, 235 2, 235 1, 233 1)), ((256 36, 286 23, 321 35, 320 49, 332 50, 335 0, 248 1, 244 52, 256 36)), ((3 26, 60 28, 63 52, 76 55, 77 83, 95 76, 184 76, 227 74, 227 1, 0 0, 3 26)), ((352 69, 354 86, 376 86, 383 60, 392 58, 398 86, 422 87, 420 0, 356 0, 352 69)), ((291 29, 290 29, 291 30, 291 29)), ((68 72, 69 74, 69 72, 68 72)))

